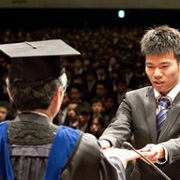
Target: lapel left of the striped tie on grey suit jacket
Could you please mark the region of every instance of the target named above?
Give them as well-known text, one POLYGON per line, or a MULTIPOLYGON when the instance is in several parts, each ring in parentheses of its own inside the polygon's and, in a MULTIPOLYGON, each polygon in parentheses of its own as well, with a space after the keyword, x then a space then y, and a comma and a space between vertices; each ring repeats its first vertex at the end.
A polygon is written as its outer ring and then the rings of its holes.
POLYGON ((157 142, 157 129, 156 129, 156 100, 153 88, 149 88, 144 101, 147 125, 149 128, 152 143, 157 142))

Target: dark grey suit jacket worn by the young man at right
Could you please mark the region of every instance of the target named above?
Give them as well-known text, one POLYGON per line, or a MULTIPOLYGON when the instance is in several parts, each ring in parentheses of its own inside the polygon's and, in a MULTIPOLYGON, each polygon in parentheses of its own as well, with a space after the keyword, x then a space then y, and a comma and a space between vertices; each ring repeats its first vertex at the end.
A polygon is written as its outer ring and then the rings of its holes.
MULTIPOLYGON (((174 99, 159 138, 156 129, 156 99, 153 87, 145 87, 126 93, 118 108, 115 122, 110 124, 100 139, 120 147, 134 134, 134 146, 163 144, 168 152, 168 161, 158 165, 172 180, 180 180, 180 93, 174 99)), ((137 160, 131 174, 135 180, 164 180, 150 165, 137 160)))

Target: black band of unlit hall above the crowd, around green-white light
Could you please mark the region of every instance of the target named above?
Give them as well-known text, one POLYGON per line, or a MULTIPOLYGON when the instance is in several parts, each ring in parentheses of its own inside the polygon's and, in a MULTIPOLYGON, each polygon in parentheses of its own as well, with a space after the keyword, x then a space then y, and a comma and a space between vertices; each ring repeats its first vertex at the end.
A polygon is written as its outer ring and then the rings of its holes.
POLYGON ((119 9, 0 9, 0 29, 26 30, 41 27, 79 27, 115 25, 152 27, 167 24, 179 28, 180 10, 127 9, 118 18, 119 9))

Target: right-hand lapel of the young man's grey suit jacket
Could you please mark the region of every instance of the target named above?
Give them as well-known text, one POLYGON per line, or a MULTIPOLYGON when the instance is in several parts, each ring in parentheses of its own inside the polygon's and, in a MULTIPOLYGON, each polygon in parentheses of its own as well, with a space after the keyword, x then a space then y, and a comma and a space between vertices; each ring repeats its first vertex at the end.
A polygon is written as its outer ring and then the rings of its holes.
POLYGON ((168 111, 167 118, 163 124, 158 142, 163 142, 166 137, 169 135, 171 128, 175 125, 176 121, 178 120, 180 114, 180 93, 174 99, 172 103, 172 107, 168 111))

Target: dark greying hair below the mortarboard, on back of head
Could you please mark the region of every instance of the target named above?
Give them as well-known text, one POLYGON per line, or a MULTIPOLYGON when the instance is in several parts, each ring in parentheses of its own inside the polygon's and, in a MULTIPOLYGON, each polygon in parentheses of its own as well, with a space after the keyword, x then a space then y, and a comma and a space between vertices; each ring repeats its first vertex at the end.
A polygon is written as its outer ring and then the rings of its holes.
POLYGON ((47 109, 60 86, 59 81, 53 80, 46 84, 10 86, 11 96, 16 108, 20 111, 47 109))

